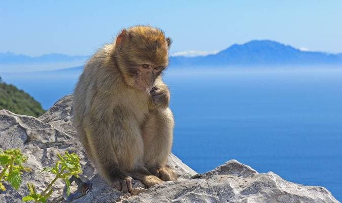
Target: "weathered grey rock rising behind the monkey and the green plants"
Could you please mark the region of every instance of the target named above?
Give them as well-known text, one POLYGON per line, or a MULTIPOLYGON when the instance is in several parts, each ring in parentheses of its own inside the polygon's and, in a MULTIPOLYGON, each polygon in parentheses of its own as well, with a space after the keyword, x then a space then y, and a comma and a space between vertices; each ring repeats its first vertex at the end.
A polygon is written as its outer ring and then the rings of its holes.
MULTIPOLYGON (((102 181, 88 162, 83 147, 76 138, 76 130, 72 126, 71 103, 72 96, 65 96, 38 119, 17 115, 7 110, 0 111, 0 148, 5 150, 20 148, 28 156, 26 166, 32 169, 31 172, 23 175, 23 184, 18 191, 5 184, 8 190, 0 192, 0 202, 22 202, 22 196, 28 194, 27 183, 35 184, 39 191, 44 190, 54 176, 41 171, 58 160, 56 154, 63 154, 64 151, 79 154, 83 174, 93 183, 91 195, 85 196, 82 201, 78 200, 78 202, 105 202, 109 199, 114 201, 123 195, 102 181)), ((196 174, 173 154, 169 156, 168 165, 174 167, 178 175, 184 179, 196 174)), ((64 183, 57 181, 53 187, 52 197, 59 197, 63 187, 64 183)), ((134 187, 144 187, 144 185, 135 181, 134 187)))

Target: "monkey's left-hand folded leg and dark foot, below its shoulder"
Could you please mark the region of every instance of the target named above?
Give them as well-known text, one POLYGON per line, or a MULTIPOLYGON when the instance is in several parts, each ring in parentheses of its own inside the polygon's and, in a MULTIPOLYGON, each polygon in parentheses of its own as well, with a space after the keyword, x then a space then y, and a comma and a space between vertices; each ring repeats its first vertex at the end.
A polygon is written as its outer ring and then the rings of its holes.
POLYGON ((86 135, 99 174, 117 189, 130 191, 132 179, 127 172, 135 168, 143 154, 139 125, 122 109, 99 120, 89 118, 86 135))

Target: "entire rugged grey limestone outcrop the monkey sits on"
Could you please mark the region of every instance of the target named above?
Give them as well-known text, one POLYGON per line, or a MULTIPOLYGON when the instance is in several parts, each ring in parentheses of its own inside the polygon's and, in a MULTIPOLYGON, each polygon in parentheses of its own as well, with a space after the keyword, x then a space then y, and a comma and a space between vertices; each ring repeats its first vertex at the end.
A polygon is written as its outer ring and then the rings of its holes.
MULTIPOLYGON (((173 154, 168 165, 177 171, 178 181, 147 190, 140 181, 134 181, 135 195, 124 194, 108 186, 88 162, 71 124, 71 103, 72 96, 65 96, 38 119, 0 111, 0 147, 20 148, 28 155, 26 166, 32 168, 24 173, 18 191, 5 184, 8 190, 0 192, 0 202, 21 202, 22 196, 28 194, 26 183, 33 183, 42 191, 54 176, 41 170, 51 166, 57 160, 56 154, 64 151, 79 154, 83 174, 93 183, 87 195, 73 202, 339 202, 323 187, 291 183, 272 172, 259 174, 236 160, 189 179, 196 172, 173 154)), ((60 197, 63 187, 64 183, 57 181, 52 197, 60 197)))

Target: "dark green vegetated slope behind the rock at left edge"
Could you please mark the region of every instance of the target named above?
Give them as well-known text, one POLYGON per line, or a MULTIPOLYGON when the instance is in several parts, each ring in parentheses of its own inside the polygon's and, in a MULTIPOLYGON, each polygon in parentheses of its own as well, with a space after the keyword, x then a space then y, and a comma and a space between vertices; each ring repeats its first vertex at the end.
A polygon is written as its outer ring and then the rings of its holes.
POLYGON ((0 77, 0 110, 2 109, 35 117, 45 112, 42 105, 33 97, 14 85, 2 82, 0 77))

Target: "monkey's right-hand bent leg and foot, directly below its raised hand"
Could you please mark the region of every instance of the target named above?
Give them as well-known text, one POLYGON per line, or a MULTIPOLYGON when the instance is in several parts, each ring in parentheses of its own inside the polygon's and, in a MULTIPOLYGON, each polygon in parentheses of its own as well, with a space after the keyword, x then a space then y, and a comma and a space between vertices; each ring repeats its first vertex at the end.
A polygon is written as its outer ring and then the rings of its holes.
POLYGON ((143 126, 144 163, 149 171, 164 181, 177 180, 166 164, 171 153, 174 117, 170 109, 152 112, 143 126))

